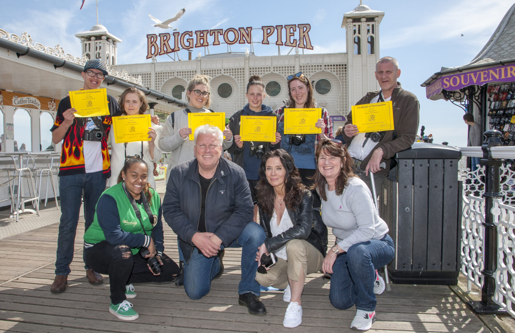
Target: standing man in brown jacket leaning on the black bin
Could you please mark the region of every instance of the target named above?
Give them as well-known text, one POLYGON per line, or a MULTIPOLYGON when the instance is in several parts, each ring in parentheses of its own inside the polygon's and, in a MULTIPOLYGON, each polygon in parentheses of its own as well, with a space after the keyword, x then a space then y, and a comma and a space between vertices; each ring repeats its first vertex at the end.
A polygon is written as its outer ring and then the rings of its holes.
POLYGON ((417 96, 401 88, 400 82, 397 82, 400 75, 396 59, 381 58, 375 64, 375 78, 381 90, 367 93, 356 103, 361 105, 392 101, 394 130, 377 132, 375 136, 358 133, 357 126, 352 124, 352 113, 348 114, 344 127, 343 137, 355 160, 356 175, 371 189, 368 173, 373 172, 378 191, 393 166, 391 158, 410 147, 417 135, 420 105, 417 96))

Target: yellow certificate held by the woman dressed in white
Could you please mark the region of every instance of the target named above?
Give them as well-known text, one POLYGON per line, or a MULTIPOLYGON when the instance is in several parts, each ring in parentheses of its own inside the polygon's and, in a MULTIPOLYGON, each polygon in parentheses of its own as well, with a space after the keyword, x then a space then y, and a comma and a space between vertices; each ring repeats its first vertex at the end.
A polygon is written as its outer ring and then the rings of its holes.
POLYGON ((149 127, 151 127, 150 114, 113 117, 114 142, 150 141, 149 127))

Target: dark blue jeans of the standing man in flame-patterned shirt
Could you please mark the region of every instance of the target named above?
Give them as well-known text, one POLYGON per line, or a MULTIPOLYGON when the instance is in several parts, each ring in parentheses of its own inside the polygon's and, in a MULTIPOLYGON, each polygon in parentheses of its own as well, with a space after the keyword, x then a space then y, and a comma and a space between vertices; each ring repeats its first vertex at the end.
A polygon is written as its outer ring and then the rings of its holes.
MULTIPOLYGON (((68 275, 71 272, 70 263, 73 260, 82 192, 84 192, 85 231, 93 223, 96 203, 105 189, 106 179, 104 179, 102 171, 59 176, 61 221, 57 237, 56 275, 68 275)), ((84 265, 84 268, 88 269, 89 267, 84 265)))

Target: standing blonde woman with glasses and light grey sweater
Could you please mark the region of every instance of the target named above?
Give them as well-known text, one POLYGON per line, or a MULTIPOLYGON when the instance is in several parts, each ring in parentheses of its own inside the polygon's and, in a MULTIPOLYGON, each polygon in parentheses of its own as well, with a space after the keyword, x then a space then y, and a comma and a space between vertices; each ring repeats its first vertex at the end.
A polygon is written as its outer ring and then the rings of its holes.
MULTIPOLYGON (((170 176, 170 170, 174 166, 184 163, 193 159, 194 141, 190 141, 190 134, 192 129, 188 127, 188 113, 193 112, 215 112, 208 109, 211 104, 211 87, 209 80, 211 78, 207 75, 196 75, 188 84, 186 88, 186 100, 189 105, 187 108, 175 111, 166 118, 165 125, 161 131, 159 138, 159 147, 163 152, 169 152, 168 156, 168 169, 166 171, 166 181, 170 176)), ((222 147, 227 150, 232 144, 232 132, 229 129, 224 130, 226 137, 222 147)), ((182 256, 181 247, 179 246, 179 267, 181 272, 176 279, 175 284, 182 286, 184 281, 183 275, 184 257, 182 256)))

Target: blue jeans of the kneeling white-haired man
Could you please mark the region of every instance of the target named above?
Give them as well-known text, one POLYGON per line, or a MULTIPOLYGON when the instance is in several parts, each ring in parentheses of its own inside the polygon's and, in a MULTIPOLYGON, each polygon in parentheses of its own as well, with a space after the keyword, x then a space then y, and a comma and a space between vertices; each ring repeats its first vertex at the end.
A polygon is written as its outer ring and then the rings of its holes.
MULTIPOLYGON (((255 223, 249 222, 239 237, 228 247, 242 247, 242 279, 239 281, 238 294, 248 292, 260 295, 259 283, 254 279, 258 271, 255 261, 258 247, 265 241, 265 231, 255 223)), ((222 244, 222 248, 223 248, 222 244)), ((191 299, 199 299, 209 293, 211 281, 220 271, 218 256, 205 257, 193 248, 190 261, 184 263, 184 290, 191 299)))

